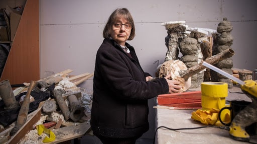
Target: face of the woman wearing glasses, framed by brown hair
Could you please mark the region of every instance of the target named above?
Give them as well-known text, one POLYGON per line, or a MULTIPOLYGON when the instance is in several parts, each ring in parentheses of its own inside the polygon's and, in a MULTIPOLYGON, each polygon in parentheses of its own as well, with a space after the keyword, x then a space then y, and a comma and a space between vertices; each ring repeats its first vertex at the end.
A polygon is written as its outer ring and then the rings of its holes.
POLYGON ((110 36, 114 39, 118 44, 125 45, 127 39, 129 39, 131 35, 132 26, 129 21, 120 18, 117 21, 112 23, 112 29, 110 31, 110 36))

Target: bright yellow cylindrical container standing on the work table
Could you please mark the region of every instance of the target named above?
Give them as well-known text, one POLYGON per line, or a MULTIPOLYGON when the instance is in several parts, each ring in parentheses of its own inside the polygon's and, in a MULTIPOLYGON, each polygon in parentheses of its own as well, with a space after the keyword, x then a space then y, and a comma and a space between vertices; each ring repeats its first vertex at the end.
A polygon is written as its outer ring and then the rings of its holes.
POLYGON ((202 110, 225 107, 225 97, 228 95, 228 84, 224 82, 201 83, 202 110))

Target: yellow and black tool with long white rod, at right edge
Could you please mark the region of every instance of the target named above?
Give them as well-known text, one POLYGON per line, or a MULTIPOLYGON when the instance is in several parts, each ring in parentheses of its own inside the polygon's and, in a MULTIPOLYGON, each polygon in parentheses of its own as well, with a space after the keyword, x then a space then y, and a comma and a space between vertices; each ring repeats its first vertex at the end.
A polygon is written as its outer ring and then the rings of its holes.
POLYGON ((203 62, 203 65, 236 81, 241 86, 242 91, 251 98, 252 102, 242 109, 238 114, 233 118, 231 125, 229 126, 229 135, 240 141, 249 141, 250 135, 246 132, 245 127, 251 125, 254 122, 257 122, 257 83, 254 80, 245 80, 242 81, 229 73, 209 64, 203 62))

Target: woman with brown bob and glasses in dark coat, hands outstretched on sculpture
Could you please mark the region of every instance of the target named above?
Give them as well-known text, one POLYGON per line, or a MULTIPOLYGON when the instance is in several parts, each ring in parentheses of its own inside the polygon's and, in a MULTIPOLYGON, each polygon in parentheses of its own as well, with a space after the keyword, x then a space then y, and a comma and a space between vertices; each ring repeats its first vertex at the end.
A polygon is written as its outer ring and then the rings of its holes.
POLYGON ((133 17, 117 8, 103 29, 104 40, 95 60, 91 128, 103 143, 135 143, 149 129, 148 99, 178 92, 181 86, 168 76, 148 80, 132 45, 133 17))

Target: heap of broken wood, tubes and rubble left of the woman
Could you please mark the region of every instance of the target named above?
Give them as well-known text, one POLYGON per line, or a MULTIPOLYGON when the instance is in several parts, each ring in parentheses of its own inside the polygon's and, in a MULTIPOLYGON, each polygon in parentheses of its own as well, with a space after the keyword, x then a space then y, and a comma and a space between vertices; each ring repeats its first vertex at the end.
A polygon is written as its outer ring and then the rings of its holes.
MULTIPOLYGON (((52 132, 52 130, 58 131, 58 129, 67 126, 72 128, 80 123, 84 130, 73 133, 70 135, 70 139, 84 134, 81 132, 86 132, 90 127, 93 91, 92 89, 77 87, 77 85, 93 76, 93 73, 83 73, 77 76, 68 75, 72 71, 67 69, 38 81, 31 81, 29 87, 17 88, 19 92, 16 92, 16 95, 13 92, 16 90, 12 90, 9 80, 1 81, 0 143, 25 143, 25 141, 42 143, 44 140, 42 135, 31 134, 38 130, 35 129, 36 127, 42 126, 43 129, 49 128, 50 135, 56 134, 57 142, 63 138, 61 137, 63 135, 52 132), (11 104, 13 107, 10 107, 10 102, 14 103, 11 104), (36 126, 40 124, 43 125, 36 126)), ((45 135, 49 136, 49 133, 45 135)), ((55 140, 55 136, 48 139, 55 140)))

